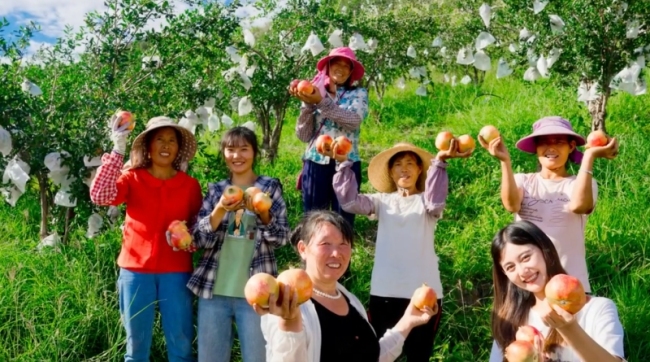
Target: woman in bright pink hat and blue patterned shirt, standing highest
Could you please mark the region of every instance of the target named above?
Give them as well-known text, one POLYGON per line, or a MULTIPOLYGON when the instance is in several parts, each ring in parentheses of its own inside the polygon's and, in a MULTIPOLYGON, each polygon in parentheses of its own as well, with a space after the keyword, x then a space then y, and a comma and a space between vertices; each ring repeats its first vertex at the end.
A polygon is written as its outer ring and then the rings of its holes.
POLYGON ((354 86, 363 78, 364 68, 348 47, 333 49, 318 61, 318 74, 312 80, 316 91, 307 94, 290 88, 289 93, 302 101, 296 135, 307 143, 303 154, 303 170, 298 180, 302 189, 303 210, 331 209, 354 225, 354 214, 341 209, 332 188, 336 173, 336 160, 331 153, 316 151, 315 140, 320 135, 332 139, 345 136, 352 142, 348 158, 357 183, 361 184, 361 159, 359 157, 359 129, 368 115, 368 91, 354 86))

